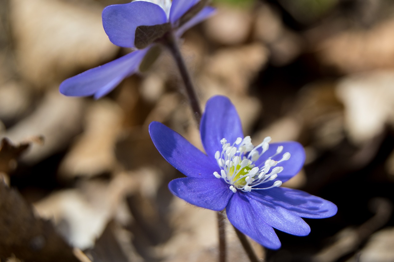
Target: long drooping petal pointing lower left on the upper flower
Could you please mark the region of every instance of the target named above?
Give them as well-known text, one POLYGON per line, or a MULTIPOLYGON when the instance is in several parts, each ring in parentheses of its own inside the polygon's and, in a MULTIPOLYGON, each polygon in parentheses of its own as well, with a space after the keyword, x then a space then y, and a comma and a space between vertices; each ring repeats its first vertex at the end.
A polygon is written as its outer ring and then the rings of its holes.
POLYGON ((66 96, 91 96, 100 98, 108 94, 127 76, 138 71, 144 55, 149 50, 137 50, 105 65, 89 69, 60 84, 60 92, 66 96))

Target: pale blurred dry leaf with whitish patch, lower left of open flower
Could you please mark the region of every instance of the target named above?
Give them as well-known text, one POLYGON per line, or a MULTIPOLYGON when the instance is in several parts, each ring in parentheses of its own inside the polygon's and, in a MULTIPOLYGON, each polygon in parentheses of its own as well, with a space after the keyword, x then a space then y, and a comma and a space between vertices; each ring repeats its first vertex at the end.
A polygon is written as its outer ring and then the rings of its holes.
POLYGON ((34 206, 41 217, 54 220, 72 245, 85 249, 94 245, 108 221, 130 222, 125 196, 138 190, 140 184, 136 176, 121 173, 110 183, 88 180, 78 188, 54 192, 34 206))

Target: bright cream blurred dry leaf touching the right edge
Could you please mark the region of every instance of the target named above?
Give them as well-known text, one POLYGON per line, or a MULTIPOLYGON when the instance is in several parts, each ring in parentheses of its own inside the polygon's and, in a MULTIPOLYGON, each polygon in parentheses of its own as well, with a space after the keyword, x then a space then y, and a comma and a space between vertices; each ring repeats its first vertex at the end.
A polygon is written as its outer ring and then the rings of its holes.
POLYGON ((394 124, 394 71, 375 71, 343 78, 336 94, 345 106, 345 125, 356 144, 381 134, 394 124))

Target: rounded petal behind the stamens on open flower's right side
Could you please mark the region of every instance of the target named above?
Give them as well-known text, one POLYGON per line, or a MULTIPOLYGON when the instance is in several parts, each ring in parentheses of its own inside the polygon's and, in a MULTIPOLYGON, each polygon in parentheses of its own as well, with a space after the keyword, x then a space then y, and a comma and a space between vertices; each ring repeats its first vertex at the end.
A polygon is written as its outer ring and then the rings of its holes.
MULTIPOLYGON (((273 157, 273 160, 281 160, 284 153, 290 153, 290 159, 280 162, 278 166, 283 167, 283 171, 278 174, 277 179, 273 180, 277 181, 280 180, 282 182, 288 181, 290 178, 294 177, 305 163, 305 150, 303 146, 298 142, 280 142, 280 143, 272 143, 269 144, 268 150, 255 162, 256 166, 260 166, 260 164, 264 164, 264 162, 271 156, 276 153, 278 146, 283 146, 283 151, 279 155, 273 157)), ((260 149, 261 152, 261 149, 260 149)), ((272 182, 272 183, 273 183, 272 182)), ((262 187, 268 187, 272 183, 264 183, 262 187)))

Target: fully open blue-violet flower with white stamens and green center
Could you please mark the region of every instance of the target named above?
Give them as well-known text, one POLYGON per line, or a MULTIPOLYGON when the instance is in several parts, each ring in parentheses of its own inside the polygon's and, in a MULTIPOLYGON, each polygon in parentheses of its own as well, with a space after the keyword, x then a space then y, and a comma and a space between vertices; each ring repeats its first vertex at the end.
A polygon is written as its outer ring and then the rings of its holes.
POLYGON ((226 210, 238 230, 270 249, 281 246, 275 229, 305 236, 302 218, 327 218, 335 204, 301 190, 285 188, 305 161, 297 142, 258 146, 244 137, 234 105, 223 96, 208 100, 200 125, 205 153, 159 122, 149 125, 160 154, 187 177, 174 179, 169 190, 187 202, 211 210, 226 210))

